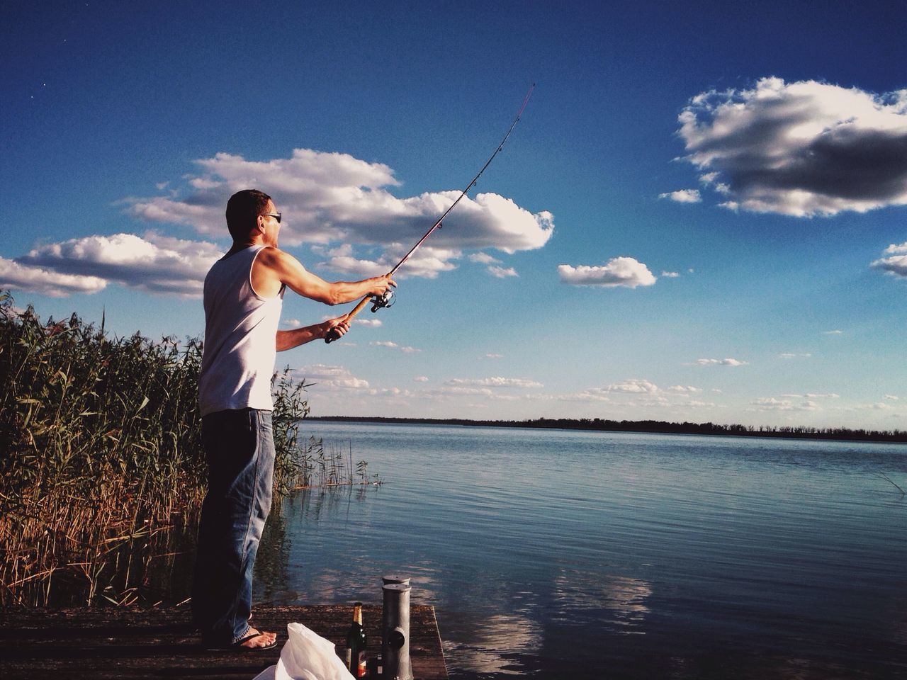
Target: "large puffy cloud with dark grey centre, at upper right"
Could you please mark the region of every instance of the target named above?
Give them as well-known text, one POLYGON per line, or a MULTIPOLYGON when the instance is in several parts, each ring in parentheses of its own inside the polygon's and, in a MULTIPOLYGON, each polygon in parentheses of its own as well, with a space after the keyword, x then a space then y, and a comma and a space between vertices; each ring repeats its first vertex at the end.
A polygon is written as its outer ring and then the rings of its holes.
POLYGON ((907 204, 907 90, 770 77, 702 92, 679 122, 684 160, 729 209, 812 217, 907 204))

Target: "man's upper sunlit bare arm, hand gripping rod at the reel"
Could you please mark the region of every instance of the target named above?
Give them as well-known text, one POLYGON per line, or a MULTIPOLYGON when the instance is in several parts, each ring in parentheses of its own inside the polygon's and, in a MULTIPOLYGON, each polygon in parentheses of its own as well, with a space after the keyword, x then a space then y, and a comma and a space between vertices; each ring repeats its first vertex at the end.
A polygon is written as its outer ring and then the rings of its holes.
MULTIPOLYGON (((253 269, 253 285, 256 290, 268 287, 268 284, 276 284, 278 287, 279 284, 286 284, 297 294, 326 305, 342 305, 367 295, 383 295, 388 287, 396 285, 389 275, 362 281, 328 283, 307 271, 296 257, 278 248, 264 248, 258 254, 258 262, 264 266, 260 271, 264 280, 258 281, 258 273, 253 269)), ((262 291, 261 294, 267 296, 267 292, 262 291)))

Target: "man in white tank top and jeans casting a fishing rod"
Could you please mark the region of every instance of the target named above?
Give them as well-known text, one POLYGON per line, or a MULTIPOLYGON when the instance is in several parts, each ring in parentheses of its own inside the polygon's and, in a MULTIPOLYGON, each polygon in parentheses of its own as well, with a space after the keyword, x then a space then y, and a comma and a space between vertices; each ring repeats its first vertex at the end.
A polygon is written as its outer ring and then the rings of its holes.
POLYGON ((384 296, 390 274, 328 283, 278 248, 280 213, 245 189, 227 203, 233 246, 205 277, 205 345, 199 376, 201 439, 209 465, 192 583, 192 614, 208 648, 270 649, 274 633, 249 626, 252 571, 273 490, 271 377, 277 352, 349 330, 348 315, 278 330, 289 287, 327 305, 384 296))

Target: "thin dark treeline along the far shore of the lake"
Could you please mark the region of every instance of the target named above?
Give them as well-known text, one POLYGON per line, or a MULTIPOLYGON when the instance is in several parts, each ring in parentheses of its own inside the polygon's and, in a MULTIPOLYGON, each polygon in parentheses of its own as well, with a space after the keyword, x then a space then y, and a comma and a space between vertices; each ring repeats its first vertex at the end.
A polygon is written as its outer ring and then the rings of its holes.
POLYGON ((850 430, 845 427, 766 425, 721 425, 717 423, 667 423, 665 421, 612 421, 601 418, 537 418, 524 421, 476 421, 460 418, 385 418, 356 416, 309 416, 309 420, 345 423, 405 423, 426 425, 472 425, 481 427, 543 427, 558 430, 604 432, 661 432, 668 434, 717 434, 736 437, 784 437, 789 439, 836 439, 854 442, 907 442, 902 430, 850 430))

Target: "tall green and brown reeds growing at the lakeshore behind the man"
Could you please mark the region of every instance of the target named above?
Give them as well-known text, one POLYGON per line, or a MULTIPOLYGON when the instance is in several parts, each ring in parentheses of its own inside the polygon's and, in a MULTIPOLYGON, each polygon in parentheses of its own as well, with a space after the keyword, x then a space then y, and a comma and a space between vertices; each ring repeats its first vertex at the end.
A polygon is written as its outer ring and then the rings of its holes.
MULTIPOLYGON (((140 597, 204 493, 200 360, 198 339, 42 323, 0 293, 0 604, 140 597)), ((305 385, 275 377, 275 486, 287 492, 310 478, 320 442, 297 441, 305 385)))

